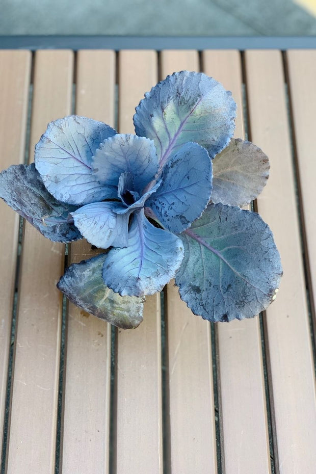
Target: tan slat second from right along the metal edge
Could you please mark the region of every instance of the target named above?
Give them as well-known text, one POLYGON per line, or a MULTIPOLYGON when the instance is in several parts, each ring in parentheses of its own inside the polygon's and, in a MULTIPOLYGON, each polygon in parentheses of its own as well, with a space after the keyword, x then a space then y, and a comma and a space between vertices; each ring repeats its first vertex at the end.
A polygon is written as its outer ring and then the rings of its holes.
MULTIPOLYGON (((265 319, 280 473, 316 465, 315 383, 291 147, 280 51, 247 51, 251 139, 269 156, 271 175, 258 198, 281 253, 284 276, 265 319)), ((302 84, 300 84, 300 87, 302 84)))

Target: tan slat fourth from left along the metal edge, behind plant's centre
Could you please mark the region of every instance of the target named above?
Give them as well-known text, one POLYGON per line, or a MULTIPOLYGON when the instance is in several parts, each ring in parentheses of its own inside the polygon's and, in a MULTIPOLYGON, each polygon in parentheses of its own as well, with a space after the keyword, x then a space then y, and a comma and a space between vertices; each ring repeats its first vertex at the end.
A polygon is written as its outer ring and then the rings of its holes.
MULTIPOLYGON (((119 53, 119 131, 134 133, 135 106, 157 82, 155 51, 119 53)), ((146 297, 144 321, 117 337, 117 474, 162 473, 160 295, 146 297)))

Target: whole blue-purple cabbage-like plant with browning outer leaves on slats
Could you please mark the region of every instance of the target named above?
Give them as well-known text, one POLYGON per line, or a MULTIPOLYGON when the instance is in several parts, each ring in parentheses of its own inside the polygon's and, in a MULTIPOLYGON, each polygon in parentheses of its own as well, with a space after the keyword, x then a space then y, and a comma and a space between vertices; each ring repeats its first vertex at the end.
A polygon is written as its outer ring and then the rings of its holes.
POLYGON ((136 135, 65 117, 48 124, 35 163, 0 174, 1 197, 47 238, 104 249, 60 279, 70 301, 137 327, 144 297, 175 278, 181 299, 212 322, 267 308, 279 253, 268 225, 240 206, 264 188, 269 161, 231 138, 235 113, 213 78, 176 72, 141 100, 136 135))

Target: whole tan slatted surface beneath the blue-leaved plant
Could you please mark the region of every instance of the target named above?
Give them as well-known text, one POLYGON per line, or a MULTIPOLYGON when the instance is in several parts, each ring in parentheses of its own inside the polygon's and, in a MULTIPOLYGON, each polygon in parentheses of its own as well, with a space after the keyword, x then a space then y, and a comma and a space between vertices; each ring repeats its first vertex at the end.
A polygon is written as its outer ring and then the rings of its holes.
POLYGON ((255 206, 281 253, 278 297, 210 325, 170 283, 138 329, 114 330, 55 288, 91 246, 21 236, 0 202, 0 474, 315 472, 315 50, 0 50, 0 168, 27 147, 32 161, 70 113, 132 133, 143 93, 181 69, 232 90, 236 136, 269 156, 255 206))

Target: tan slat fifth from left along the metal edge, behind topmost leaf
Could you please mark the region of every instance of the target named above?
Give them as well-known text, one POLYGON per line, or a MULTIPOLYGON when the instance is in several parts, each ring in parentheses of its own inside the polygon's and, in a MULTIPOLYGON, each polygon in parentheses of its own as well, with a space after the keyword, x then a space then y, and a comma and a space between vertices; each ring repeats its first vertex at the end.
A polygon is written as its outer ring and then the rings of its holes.
MULTIPOLYGON (((163 51, 161 79, 183 69, 198 71, 197 51, 163 51)), ((210 325, 167 287, 171 472, 217 472, 210 325), (207 446, 207 447, 206 447, 207 446)))

